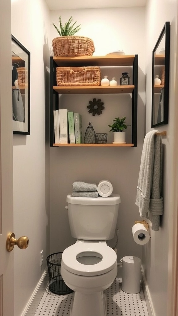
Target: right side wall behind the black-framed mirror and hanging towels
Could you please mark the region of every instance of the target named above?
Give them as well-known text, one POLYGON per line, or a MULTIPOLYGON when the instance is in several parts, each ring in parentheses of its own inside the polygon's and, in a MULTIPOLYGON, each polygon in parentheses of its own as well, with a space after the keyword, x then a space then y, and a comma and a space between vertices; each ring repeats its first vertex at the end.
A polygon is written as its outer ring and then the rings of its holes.
MULTIPOLYGON (((177 125, 176 95, 176 52, 177 52, 177 1, 149 0, 146 6, 146 132, 151 130, 151 81, 152 50, 166 21, 170 21, 170 78, 169 78, 169 124, 159 127, 166 130, 162 139, 164 152, 163 198, 164 214, 158 232, 151 231, 150 243, 144 246, 143 266, 147 280, 153 312, 156 316, 172 315, 172 232, 177 209, 177 168, 175 169, 175 127, 177 125), (176 191, 175 191, 176 190, 176 191), (169 291, 168 291, 169 289, 169 291)), ((157 129, 157 127, 156 127, 157 129)))

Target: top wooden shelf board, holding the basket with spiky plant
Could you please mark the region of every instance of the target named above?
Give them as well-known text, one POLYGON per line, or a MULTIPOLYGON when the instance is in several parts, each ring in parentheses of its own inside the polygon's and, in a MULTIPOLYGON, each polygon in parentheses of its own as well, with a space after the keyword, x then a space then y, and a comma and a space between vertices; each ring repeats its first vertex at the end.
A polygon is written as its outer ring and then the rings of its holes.
POLYGON ((84 66, 133 66, 135 55, 123 56, 77 56, 77 57, 53 57, 53 60, 58 66, 78 65, 84 66))

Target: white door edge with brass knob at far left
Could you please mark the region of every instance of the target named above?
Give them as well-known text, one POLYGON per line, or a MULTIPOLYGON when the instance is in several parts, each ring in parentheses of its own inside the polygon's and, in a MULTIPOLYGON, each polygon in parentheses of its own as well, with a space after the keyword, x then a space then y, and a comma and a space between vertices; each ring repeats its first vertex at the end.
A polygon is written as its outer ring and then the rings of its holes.
POLYGON ((10 0, 0 0, 0 316, 14 316, 12 66, 10 0))

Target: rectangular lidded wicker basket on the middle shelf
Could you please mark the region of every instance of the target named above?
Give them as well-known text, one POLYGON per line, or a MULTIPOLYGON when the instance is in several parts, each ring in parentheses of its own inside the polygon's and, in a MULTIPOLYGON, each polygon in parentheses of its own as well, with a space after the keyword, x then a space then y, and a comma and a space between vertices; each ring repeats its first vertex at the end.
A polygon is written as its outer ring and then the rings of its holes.
POLYGON ((99 67, 56 67, 57 86, 99 86, 99 67))

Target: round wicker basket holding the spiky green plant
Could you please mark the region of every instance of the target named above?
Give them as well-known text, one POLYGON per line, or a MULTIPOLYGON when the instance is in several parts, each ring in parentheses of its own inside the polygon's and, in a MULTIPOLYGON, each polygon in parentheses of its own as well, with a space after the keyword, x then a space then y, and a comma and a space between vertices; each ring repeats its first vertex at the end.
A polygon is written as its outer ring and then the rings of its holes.
POLYGON ((60 36, 52 41, 54 56, 92 56, 93 41, 82 36, 60 36))

